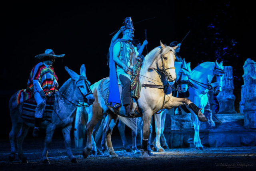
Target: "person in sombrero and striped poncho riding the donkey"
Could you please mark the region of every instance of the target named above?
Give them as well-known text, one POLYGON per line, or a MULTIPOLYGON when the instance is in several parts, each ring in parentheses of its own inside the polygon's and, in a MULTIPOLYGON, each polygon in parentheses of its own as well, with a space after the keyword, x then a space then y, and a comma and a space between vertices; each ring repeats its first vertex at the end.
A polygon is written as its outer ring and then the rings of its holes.
POLYGON ((38 137, 39 126, 42 122, 46 106, 46 96, 54 92, 55 86, 58 87, 58 78, 52 67, 56 57, 64 57, 64 55, 55 55, 52 49, 47 49, 45 53, 36 55, 35 58, 41 62, 32 69, 28 79, 27 90, 34 95, 37 104, 35 109, 34 137, 38 137))

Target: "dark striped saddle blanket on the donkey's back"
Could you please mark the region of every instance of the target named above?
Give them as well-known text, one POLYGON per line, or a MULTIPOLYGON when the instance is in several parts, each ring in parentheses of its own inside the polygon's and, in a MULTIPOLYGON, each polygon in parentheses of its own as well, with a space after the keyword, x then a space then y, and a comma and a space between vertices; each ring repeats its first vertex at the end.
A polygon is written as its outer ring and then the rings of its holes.
MULTIPOLYGON (((55 97, 50 97, 48 102, 46 102, 43 120, 52 121, 52 111, 55 97), (51 105, 51 106, 50 106, 51 105)), ((34 96, 29 98, 23 103, 21 117, 29 120, 35 120, 35 109, 36 109, 36 100, 34 96)))

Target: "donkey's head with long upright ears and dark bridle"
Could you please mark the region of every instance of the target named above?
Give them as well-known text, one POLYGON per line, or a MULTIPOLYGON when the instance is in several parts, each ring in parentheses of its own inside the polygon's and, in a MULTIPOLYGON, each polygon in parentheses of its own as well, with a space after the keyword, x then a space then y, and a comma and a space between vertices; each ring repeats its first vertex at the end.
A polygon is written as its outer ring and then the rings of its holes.
POLYGON ((74 98, 78 102, 86 102, 88 105, 93 104, 95 98, 92 95, 90 89, 90 82, 87 81, 86 69, 84 64, 80 68, 80 75, 65 67, 66 71, 70 75, 72 81, 74 82, 74 98))

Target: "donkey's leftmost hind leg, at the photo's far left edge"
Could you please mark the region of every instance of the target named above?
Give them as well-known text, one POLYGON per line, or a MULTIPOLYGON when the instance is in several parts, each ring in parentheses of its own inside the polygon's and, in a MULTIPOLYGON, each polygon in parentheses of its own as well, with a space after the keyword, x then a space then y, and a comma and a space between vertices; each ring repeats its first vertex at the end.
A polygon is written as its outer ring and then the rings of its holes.
POLYGON ((12 124, 12 130, 9 133, 10 138, 10 144, 11 144, 11 154, 9 155, 9 160, 14 161, 15 154, 16 154, 16 148, 15 148, 15 140, 18 132, 20 131, 22 127, 21 123, 13 123, 12 124))

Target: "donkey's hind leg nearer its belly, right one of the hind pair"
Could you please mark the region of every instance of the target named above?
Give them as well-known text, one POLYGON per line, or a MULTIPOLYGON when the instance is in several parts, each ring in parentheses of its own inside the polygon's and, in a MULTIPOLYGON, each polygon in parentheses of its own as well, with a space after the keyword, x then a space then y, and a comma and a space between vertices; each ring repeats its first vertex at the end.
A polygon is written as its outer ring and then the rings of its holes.
POLYGON ((22 128, 20 129, 20 132, 17 136, 17 147, 18 147, 18 156, 21 159, 22 163, 28 163, 27 157, 24 157, 23 151, 22 151, 22 143, 25 138, 25 136, 28 133, 28 128, 30 126, 26 125, 25 123, 22 125, 22 128))

